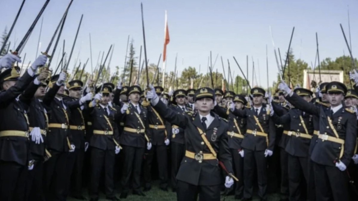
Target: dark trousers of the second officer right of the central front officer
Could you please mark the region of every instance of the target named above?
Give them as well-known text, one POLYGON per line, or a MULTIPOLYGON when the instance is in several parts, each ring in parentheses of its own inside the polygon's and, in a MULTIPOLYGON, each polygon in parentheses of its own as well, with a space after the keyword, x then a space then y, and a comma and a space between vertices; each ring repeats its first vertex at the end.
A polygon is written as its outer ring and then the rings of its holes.
POLYGON ((257 172, 258 196, 266 199, 267 166, 265 151, 252 151, 244 149, 244 197, 251 198, 253 192, 254 171, 257 172), (256 163, 256 167, 255 167, 256 163))

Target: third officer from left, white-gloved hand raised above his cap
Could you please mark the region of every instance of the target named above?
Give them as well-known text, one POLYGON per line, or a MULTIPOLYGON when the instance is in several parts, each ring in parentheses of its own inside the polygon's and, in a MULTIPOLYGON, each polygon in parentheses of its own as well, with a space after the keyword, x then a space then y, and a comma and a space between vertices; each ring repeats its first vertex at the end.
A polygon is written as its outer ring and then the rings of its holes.
POLYGON ((45 109, 49 112, 46 146, 51 155, 44 164, 43 187, 47 200, 65 199, 67 156, 76 148, 69 132, 70 110, 63 100, 66 78, 65 72, 53 75, 48 83, 50 89, 43 98, 45 109))

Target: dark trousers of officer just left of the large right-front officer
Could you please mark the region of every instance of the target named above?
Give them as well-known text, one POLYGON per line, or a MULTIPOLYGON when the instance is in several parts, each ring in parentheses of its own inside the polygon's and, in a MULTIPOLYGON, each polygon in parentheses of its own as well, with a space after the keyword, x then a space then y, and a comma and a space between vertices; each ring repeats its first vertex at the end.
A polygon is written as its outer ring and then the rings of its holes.
POLYGON ((302 190, 308 181, 307 157, 297 157, 289 154, 289 199, 290 201, 300 201, 306 198, 302 190), (301 180, 304 179, 304 181, 301 180), (304 185, 304 187, 302 187, 304 185))

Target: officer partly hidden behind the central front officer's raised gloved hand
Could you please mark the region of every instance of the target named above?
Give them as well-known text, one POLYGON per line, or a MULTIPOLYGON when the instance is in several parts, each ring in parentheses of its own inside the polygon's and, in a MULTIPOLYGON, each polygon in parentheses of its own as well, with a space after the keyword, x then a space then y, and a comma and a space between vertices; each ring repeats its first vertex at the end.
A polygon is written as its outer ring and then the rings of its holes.
MULTIPOLYGON (((159 98, 163 93, 163 87, 154 87, 155 92, 159 98)), ((151 106, 147 107, 149 130, 152 134, 152 148, 146 151, 144 161, 144 191, 151 189, 151 167, 154 158, 158 162, 159 188, 163 191, 168 191, 168 153, 167 146, 170 143, 170 128, 166 128, 166 122, 158 114, 158 112, 151 106)))

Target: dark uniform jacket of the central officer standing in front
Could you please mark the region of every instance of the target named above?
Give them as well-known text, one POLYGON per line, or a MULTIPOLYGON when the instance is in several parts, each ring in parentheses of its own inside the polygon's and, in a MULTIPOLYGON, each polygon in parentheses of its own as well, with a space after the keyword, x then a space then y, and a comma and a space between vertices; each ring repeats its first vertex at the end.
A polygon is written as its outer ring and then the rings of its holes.
MULTIPOLYGON (((178 114, 177 111, 170 109, 161 101, 159 101, 154 108, 166 121, 184 129, 185 148, 187 151, 193 153, 200 153, 200 151, 202 151, 202 153, 211 153, 197 129, 200 128, 205 132, 199 115, 190 117, 188 115, 178 114)), ((220 119, 217 114, 211 113, 211 115, 214 116, 214 120, 207 128, 205 137, 217 153, 217 159, 203 160, 200 163, 193 158, 185 156, 180 164, 178 175, 176 176, 180 181, 203 186, 221 184, 222 176, 218 161, 223 162, 228 172, 233 172, 232 157, 228 146, 227 123, 220 119)))

